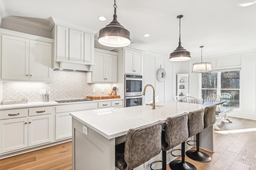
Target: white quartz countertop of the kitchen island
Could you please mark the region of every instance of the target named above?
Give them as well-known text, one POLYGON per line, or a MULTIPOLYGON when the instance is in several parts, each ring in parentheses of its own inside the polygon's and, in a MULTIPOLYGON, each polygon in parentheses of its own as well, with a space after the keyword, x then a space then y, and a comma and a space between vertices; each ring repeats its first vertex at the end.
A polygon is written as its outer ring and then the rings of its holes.
MULTIPOLYGON (((182 102, 158 102, 156 109, 152 106, 134 106, 124 108, 105 108, 96 110, 76 111, 70 115, 90 127, 107 139, 126 135, 132 128, 165 121, 167 117, 179 115, 184 112, 202 109, 208 105, 190 104, 182 102)), ((88 130, 88 134, 90 131, 88 130)))

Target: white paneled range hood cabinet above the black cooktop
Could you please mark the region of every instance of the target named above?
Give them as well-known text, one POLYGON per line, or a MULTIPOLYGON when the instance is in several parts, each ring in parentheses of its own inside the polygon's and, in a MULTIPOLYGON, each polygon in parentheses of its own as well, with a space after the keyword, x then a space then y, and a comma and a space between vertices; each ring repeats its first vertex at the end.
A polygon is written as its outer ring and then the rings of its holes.
POLYGON ((94 35, 60 25, 56 25, 55 32, 54 59, 60 63, 55 67, 90 71, 91 65, 94 64, 94 35))

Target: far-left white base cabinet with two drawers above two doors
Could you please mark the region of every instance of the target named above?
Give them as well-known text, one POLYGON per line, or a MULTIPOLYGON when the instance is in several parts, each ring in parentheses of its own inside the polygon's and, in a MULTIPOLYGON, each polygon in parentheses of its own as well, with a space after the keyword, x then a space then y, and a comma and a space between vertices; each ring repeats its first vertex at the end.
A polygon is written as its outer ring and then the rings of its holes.
POLYGON ((53 112, 53 106, 0 111, 0 154, 50 143, 53 112))

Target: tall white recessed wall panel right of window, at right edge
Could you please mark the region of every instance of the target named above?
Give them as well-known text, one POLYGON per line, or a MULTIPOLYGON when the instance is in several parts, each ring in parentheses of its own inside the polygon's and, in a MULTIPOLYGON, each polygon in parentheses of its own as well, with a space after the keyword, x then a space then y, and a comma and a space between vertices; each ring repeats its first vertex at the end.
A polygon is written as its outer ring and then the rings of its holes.
MULTIPOLYGON (((256 114, 256 53, 244 55, 244 113, 256 114)), ((242 101, 241 101, 242 102, 242 101)))

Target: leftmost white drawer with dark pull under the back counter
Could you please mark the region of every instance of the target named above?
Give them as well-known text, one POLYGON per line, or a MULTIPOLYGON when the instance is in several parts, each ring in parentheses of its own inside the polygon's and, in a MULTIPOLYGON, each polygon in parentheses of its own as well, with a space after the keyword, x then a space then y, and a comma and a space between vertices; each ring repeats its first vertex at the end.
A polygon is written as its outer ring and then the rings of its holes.
POLYGON ((28 116, 28 109, 8 109, 0 111, 0 119, 10 119, 28 116))

